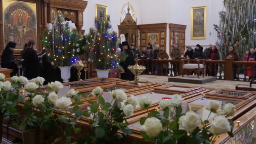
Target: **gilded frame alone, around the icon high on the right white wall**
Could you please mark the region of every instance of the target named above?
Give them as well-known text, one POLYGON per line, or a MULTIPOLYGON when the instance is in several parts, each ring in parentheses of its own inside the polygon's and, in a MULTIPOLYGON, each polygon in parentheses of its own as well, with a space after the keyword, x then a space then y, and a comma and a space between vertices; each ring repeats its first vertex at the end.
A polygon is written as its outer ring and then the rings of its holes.
MULTIPOLYGON (((197 29, 200 29, 202 27, 197 27, 197 29)), ((206 39, 206 6, 198 6, 198 7, 192 7, 191 8, 191 39, 206 39), (195 11, 203 11, 203 35, 195 36, 195 25, 194 25, 194 16, 195 11)))

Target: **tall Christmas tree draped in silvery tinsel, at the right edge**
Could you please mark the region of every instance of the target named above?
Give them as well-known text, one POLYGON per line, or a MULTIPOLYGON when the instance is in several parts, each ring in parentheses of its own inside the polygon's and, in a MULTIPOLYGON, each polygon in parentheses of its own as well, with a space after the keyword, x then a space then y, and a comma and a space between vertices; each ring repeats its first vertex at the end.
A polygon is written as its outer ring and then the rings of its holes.
POLYGON ((240 55, 256 47, 256 0, 223 0, 220 24, 214 24, 219 51, 224 58, 228 47, 235 45, 240 55))

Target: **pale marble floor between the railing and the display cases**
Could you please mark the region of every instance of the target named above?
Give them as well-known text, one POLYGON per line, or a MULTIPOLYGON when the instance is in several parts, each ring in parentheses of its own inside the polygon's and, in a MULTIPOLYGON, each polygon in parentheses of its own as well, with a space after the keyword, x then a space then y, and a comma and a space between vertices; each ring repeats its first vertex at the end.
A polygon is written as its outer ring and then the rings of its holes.
MULTIPOLYGON (((168 85, 191 85, 191 86, 201 86, 210 90, 214 90, 215 88, 229 88, 235 89, 235 86, 238 85, 239 87, 249 87, 249 82, 245 81, 229 81, 229 80, 216 80, 211 83, 205 83, 203 85, 200 84, 190 84, 190 83, 173 83, 168 82, 168 76, 158 76, 158 75, 140 75, 139 80, 141 81, 148 81, 153 83, 160 83, 160 84, 168 84, 168 85)), ((252 85, 253 88, 256 88, 256 85, 252 85)))

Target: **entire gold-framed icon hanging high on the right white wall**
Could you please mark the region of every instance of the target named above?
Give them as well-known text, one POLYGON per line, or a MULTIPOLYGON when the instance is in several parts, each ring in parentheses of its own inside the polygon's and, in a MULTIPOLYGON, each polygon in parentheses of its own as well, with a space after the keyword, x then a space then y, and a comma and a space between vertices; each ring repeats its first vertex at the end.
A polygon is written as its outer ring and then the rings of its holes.
POLYGON ((206 38, 206 6, 191 8, 191 39, 206 38))

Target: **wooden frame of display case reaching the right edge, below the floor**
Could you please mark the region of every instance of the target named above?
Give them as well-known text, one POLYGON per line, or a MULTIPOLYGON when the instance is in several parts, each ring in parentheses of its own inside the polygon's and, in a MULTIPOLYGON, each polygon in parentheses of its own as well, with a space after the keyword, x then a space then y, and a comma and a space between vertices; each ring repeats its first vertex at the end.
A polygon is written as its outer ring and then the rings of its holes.
POLYGON ((236 99, 248 99, 248 97, 252 96, 253 94, 255 94, 255 92, 252 91, 239 91, 239 90, 232 90, 232 89, 221 89, 221 90, 215 90, 215 91, 211 91, 209 93, 207 93, 205 95, 205 97, 208 96, 212 96, 215 98, 219 98, 219 96, 221 97, 225 97, 225 98, 236 98, 236 99), (229 92, 234 92, 234 93, 247 93, 243 96, 232 96, 232 95, 227 95, 227 94, 219 94, 219 92, 221 91, 229 91, 229 92))

